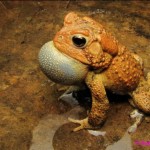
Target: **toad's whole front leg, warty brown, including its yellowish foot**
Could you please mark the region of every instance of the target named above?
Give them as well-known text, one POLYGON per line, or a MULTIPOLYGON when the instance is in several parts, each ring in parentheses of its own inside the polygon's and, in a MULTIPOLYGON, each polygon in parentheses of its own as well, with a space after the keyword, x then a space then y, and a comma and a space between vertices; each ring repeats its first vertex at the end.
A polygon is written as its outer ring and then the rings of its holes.
POLYGON ((109 109, 109 102, 106 91, 100 75, 89 73, 86 78, 86 84, 92 93, 92 108, 88 118, 83 120, 69 119, 71 122, 79 123, 80 126, 74 131, 81 129, 97 129, 106 119, 106 113, 109 109))

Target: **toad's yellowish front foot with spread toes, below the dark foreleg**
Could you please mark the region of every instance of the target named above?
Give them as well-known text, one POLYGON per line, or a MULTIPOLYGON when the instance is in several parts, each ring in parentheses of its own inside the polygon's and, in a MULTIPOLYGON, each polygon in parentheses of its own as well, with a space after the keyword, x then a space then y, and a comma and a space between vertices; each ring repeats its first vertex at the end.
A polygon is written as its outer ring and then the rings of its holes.
POLYGON ((93 129, 93 127, 88 123, 88 118, 85 118, 83 120, 76 120, 76 119, 68 118, 68 120, 73 123, 80 124, 80 126, 73 129, 73 131, 79 131, 82 129, 93 129))

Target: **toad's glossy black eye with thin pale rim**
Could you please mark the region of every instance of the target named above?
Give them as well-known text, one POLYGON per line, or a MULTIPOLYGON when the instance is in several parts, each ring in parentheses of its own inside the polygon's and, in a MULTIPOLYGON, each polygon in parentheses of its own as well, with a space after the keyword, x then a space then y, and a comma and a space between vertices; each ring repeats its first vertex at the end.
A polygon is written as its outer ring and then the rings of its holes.
POLYGON ((84 37, 73 36, 72 41, 77 47, 82 47, 86 44, 86 39, 84 37))

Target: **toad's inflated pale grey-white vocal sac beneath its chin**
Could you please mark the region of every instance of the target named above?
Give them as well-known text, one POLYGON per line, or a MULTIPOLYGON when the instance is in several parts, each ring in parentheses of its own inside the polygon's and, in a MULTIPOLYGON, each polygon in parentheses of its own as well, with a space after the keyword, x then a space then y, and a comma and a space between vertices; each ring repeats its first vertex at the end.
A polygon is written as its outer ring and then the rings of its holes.
POLYGON ((42 71, 52 81, 73 85, 82 82, 88 66, 61 53, 53 41, 44 44, 39 52, 39 63, 42 71))

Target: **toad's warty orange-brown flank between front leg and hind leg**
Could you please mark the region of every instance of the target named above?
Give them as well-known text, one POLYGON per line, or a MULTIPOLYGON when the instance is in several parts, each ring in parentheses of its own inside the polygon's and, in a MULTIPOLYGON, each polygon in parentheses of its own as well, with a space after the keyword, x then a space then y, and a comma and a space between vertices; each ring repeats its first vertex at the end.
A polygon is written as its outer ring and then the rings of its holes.
POLYGON ((106 88, 118 94, 126 94, 137 87, 140 78, 143 77, 143 70, 133 54, 122 47, 105 71, 105 75, 109 82, 106 88))

